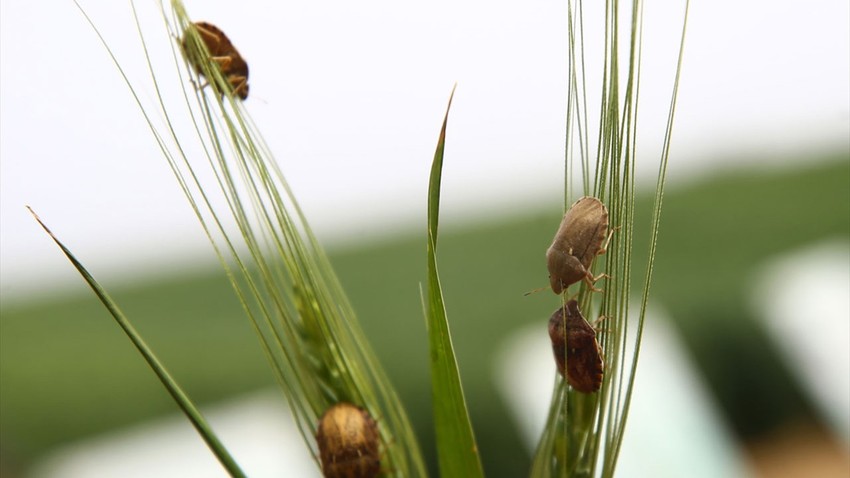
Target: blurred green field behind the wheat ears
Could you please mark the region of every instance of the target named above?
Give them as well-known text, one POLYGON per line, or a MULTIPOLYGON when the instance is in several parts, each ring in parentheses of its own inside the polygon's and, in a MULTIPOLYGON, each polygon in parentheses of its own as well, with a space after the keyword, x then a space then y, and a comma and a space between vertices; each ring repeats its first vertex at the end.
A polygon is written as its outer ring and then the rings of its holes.
MULTIPOLYGON (((760 164, 669 187, 652 294, 675 319, 745 439, 813 415, 751 317, 751 272, 809 242, 850 239, 848 152, 802 158, 798 167, 765 170, 760 164)), ((649 207, 650 197, 641 196, 638 224, 647 229, 649 207)), ((446 306, 489 476, 523 476, 528 469, 530 458, 494 388, 493 363, 515 328, 536 323, 545 333, 557 298, 523 292, 546 284, 544 251, 560 215, 553 204, 522 218, 441 228, 446 306)), ((645 235, 636 231, 639 262, 648 248, 645 235)), ((333 250, 331 259, 422 445, 433 454, 419 299, 424 224, 406 237, 333 250)), ((635 278, 642 273, 637 267, 635 278)), ((123 289, 104 286, 197 401, 275 386, 219 269, 123 289)), ((177 411, 93 294, 7 302, 0 310, 0 461, 7 466, 26 468, 68 440, 177 411)))

